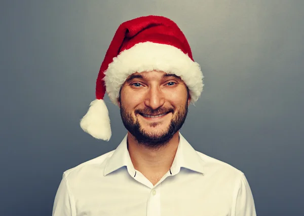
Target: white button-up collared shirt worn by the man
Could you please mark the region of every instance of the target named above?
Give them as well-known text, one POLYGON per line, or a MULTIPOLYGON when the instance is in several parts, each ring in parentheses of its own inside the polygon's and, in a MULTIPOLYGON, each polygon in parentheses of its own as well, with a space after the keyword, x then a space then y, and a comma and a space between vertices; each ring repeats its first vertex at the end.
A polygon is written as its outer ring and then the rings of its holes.
POLYGON ((153 186, 132 164, 127 136, 116 150, 66 170, 53 216, 255 216, 243 172, 197 152, 179 133, 170 170, 153 186))

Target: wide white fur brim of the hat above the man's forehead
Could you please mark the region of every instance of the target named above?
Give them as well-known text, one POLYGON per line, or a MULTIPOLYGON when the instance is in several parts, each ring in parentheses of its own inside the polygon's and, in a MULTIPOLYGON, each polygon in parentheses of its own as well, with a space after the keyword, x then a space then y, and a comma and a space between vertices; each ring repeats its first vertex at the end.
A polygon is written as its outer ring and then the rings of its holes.
POLYGON ((110 100, 118 105, 120 88, 131 74, 152 70, 181 77, 189 88, 192 103, 203 91, 204 77, 197 62, 174 46, 144 42, 121 52, 108 65, 104 82, 110 100))

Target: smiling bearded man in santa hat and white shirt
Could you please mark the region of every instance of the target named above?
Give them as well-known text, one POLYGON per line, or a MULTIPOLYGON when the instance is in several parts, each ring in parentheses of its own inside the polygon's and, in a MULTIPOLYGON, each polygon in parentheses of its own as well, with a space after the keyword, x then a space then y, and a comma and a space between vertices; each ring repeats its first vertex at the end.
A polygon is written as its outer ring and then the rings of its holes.
POLYGON ((245 175, 195 151, 179 133, 202 89, 200 65, 173 21, 147 16, 121 24, 81 126, 110 138, 107 92, 127 135, 116 150, 63 173, 53 215, 256 215, 245 175))

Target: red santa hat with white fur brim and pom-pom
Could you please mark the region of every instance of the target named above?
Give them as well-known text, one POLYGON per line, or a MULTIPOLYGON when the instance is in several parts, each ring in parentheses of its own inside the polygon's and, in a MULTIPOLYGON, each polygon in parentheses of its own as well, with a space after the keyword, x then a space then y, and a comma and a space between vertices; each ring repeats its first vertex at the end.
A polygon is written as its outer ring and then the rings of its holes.
POLYGON ((179 76, 189 89, 192 103, 200 97, 203 74, 179 27, 162 16, 138 17, 118 27, 99 70, 96 99, 81 120, 82 129, 95 138, 109 140, 105 92, 118 105, 120 88, 126 79, 136 72, 151 70, 179 76))

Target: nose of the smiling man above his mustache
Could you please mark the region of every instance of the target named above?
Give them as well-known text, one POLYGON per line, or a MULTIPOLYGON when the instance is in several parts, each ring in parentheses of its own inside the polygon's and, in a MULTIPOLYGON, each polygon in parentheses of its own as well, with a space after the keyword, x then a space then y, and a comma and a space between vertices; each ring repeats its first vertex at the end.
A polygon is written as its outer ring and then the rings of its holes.
POLYGON ((151 109, 156 110, 165 103, 164 93, 160 87, 151 86, 146 94, 144 104, 151 109))

